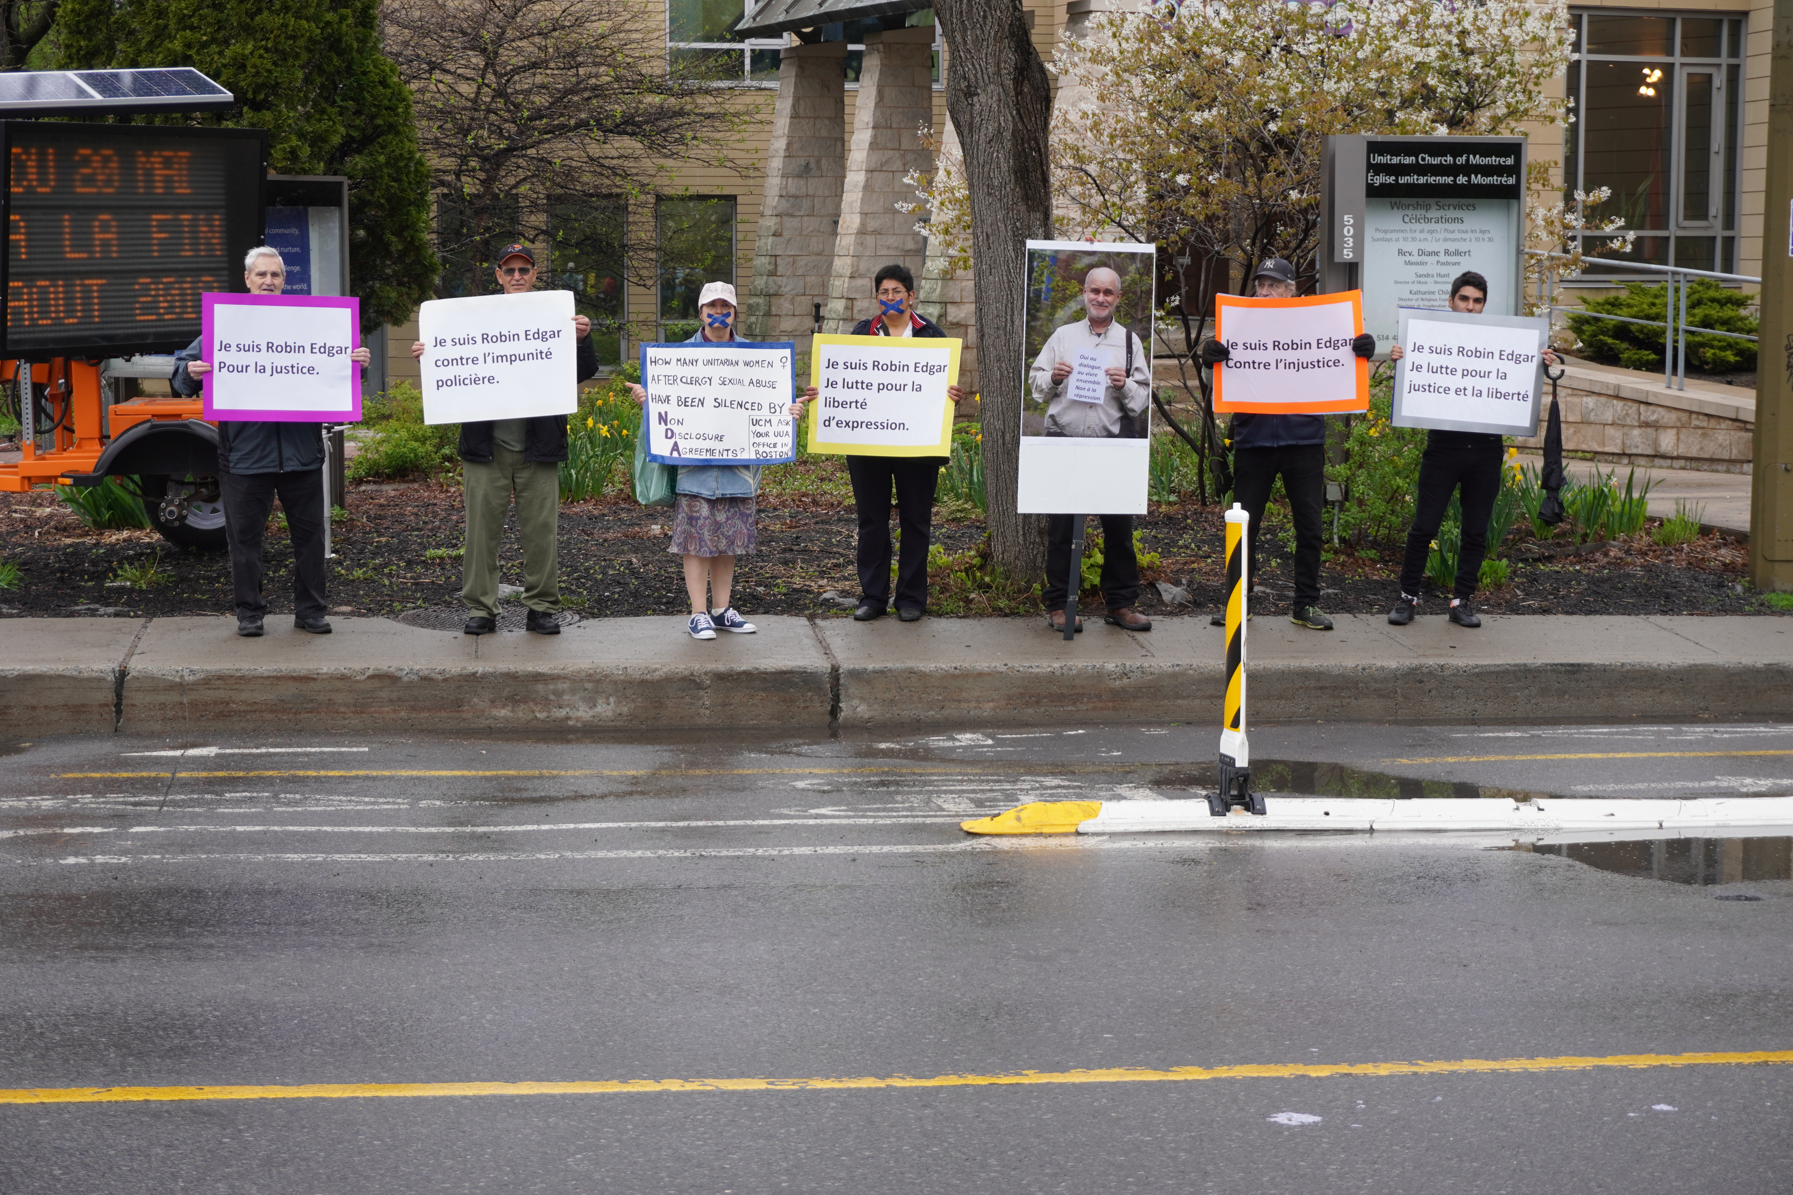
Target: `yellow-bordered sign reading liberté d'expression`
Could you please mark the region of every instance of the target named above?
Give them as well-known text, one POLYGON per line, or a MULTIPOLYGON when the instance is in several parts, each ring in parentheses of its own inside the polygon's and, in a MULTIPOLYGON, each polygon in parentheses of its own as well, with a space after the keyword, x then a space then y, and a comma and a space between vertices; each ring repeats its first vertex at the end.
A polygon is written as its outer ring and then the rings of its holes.
POLYGON ((809 450, 859 457, 947 457, 959 382, 956 337, 816 335, 809 351, 809 450))

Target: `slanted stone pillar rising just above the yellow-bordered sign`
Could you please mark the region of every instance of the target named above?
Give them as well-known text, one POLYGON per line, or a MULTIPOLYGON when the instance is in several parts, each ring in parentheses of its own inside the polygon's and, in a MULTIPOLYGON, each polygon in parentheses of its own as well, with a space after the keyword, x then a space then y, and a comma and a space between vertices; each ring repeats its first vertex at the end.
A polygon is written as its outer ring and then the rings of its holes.
POLYGON ((927 27, 866 36, 823 331, 852 331, 877 312, 871 276, 880 265, 902 262, 922 272, 916 215, 898 211, 896 204, 914 202, 914 188, 904 176, 934 168, 934 156, 920 138, 922 125, 934 120, 932 47, 934 30, 927 27))

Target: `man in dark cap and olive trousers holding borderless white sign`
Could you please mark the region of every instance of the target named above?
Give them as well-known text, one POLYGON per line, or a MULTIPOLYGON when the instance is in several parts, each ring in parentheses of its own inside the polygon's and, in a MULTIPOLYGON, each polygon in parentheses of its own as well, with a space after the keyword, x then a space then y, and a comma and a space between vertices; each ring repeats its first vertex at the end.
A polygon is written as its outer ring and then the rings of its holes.
MULTIPOLYGON (((498 287, 504 294, 529 294, 536 285, 536 254, 509 244, 498 251, 498 287)), ((574 315, 577 380, 597 373, 592 321, 574 315)), ((423 357, 423 340, 411 346, 423 357)), ((559 462, 567 459, 567 416, 533 419, 484 419, 461 425, 461 503, 466 509, 466 539, 461 552, 461 600, 466 604, 466 634, 498 629, 498 539, 516 496, 516 534, 524 541, 525 627, 536 634, 559 634, 559 462)))

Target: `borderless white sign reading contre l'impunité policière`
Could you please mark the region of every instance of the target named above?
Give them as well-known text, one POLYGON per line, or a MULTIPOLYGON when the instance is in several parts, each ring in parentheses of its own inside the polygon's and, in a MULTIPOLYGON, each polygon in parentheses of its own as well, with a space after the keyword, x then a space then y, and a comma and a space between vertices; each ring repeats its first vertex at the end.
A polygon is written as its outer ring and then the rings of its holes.
POLYGON ((423 340, 423 421, 570 416, 579 408, 579 344, 570 290, 430 299, 423 340))

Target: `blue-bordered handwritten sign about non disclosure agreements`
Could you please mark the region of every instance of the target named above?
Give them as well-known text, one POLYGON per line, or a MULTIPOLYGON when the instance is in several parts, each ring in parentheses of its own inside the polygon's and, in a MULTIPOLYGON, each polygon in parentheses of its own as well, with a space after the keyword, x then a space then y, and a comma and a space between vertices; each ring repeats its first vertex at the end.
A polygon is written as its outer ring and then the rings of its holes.
POLYGON ((642 435, 660 464, 796 460, 796 346, 644 344, 642 435))

